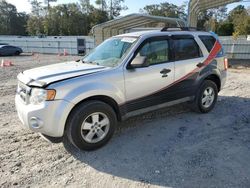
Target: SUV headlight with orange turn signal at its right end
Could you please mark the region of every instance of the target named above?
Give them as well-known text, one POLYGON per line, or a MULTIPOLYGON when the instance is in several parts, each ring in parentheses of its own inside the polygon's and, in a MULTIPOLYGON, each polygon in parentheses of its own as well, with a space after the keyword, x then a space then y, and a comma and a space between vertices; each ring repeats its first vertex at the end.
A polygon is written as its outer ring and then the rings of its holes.
POLYGON ((56 96, 56 91, 53 89, 46 90, 40 88, 33 88, 30 95, 31 104, 41 104, 44 101, 52 101, 56 96))

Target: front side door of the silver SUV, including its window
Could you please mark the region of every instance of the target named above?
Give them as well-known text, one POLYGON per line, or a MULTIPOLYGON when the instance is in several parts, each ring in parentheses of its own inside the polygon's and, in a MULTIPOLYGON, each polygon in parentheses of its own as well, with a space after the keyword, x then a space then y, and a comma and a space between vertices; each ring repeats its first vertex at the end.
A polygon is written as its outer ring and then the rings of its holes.
POLYGON ((165 88, 174 82, 170 54, 167 36, 147 39, 135 52, 134 58, 146 57, 148 66, 124 70, 127 112, 168 101, 165 88))

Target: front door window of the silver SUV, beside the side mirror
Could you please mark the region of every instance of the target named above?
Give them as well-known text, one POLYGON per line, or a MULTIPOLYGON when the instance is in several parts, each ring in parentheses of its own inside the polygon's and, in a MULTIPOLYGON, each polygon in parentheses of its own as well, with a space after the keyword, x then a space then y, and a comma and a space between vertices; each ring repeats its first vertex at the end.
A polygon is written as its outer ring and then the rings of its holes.
POLYGON ((150 65, 164 63, 169 61, 169 44, 168 40, 150 41, 143 45, 137 56, 147 57, 150 65))

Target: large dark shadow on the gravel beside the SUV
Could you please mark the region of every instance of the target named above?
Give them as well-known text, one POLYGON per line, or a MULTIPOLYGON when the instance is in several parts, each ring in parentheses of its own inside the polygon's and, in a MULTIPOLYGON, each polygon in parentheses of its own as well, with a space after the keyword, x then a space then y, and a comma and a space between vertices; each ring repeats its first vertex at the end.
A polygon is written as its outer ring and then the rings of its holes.
POLYGON ((96 151, 65 148, 98 171, 137 182, 238 187, 250 174, 244 162, 250 160, 249 106, 250 98, 228 96, 220 96, 208 114, 176 105, 121 123, 112 140, 96 151))

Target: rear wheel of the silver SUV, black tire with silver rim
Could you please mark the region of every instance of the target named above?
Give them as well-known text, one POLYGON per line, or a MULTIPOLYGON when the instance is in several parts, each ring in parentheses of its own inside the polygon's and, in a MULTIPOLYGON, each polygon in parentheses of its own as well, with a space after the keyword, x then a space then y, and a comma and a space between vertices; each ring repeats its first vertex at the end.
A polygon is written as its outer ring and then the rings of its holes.
POLYGON ((196 112, 208 113, 214 108, 217 98, 217 85, 211 80, 204 80, 196 93, 191 107, 196 112))

